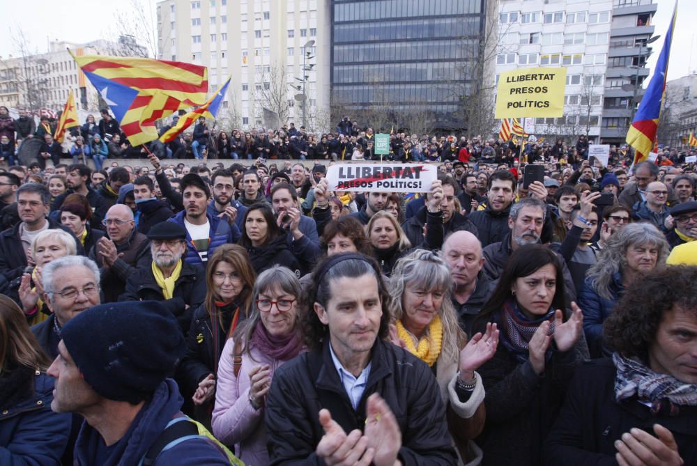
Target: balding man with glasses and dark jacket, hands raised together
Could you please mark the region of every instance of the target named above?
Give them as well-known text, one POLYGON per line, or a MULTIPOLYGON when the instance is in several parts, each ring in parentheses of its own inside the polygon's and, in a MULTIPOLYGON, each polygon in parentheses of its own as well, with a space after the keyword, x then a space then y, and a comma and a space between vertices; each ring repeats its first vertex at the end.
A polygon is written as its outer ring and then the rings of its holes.
POLYGON ((150 241, 137 231, 133 212, 127 205, 116 204, 107 210, 102 225, 107 236, 92 247, 89 258, 100 268, 104 302, 116 302, 138 263, 149 263, 150 241))

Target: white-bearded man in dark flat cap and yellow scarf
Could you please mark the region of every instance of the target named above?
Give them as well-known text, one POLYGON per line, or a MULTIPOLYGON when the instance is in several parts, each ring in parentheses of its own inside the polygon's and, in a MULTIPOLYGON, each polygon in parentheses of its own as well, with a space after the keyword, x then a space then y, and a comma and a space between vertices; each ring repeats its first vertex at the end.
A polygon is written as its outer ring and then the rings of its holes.
POLYGON ((140 265, 128 277, 119 301, 164 301, 177 318, 184 335, 194 309, 206 299, 206 272, 201 265, 183 261, 187 231, 173 222, 162 222, 148 233, 153 261, 140 265))

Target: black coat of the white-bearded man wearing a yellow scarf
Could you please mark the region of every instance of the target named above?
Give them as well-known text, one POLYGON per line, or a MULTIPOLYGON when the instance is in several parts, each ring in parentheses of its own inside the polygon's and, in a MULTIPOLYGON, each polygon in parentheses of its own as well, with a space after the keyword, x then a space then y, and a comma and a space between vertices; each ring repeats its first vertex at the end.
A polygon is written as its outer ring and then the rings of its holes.
MULTIPOLYGON (((183 259, 182 259, 183 261, 183 259)), ((167 309, 174 314, 184 335, 189 332, 194 309, 206 299, 206 272, 200 265, 183 262, 181 274, 174 284, 171 300, 165 300, 162 288, 155 281, 150 263, 144 263, 128 277, 126 290, 118 297, 119 301, 164 301, 167 309)))

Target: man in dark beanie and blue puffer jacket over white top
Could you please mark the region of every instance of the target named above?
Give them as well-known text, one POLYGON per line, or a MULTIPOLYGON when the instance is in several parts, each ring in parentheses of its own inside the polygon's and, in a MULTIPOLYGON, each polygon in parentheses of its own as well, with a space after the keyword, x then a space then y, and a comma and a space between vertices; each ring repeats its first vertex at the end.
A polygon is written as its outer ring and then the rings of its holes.
MULTIPOLYGON (((256 174, 255 174, 256 176, 256 174)), ((169 219, 185 228, 187 254, 184 260, 190 264, 204 265, 221 244, 236 242, 240 231, 235 219, 223 212, 223 217, 208 213, 210 189, 208 184, 196 173, 187 173, 181 178, 181 192, 184 210, 169 219), (230 223, 233 228, 230 228, 230 223)))

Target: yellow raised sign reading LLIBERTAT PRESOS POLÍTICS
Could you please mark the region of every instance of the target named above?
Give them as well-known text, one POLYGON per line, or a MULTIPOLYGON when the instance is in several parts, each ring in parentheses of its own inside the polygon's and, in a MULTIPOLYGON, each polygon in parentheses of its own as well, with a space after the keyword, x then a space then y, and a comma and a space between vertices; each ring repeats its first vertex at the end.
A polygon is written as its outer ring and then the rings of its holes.
POLYGON ((566 68, 524 68, 498 77, 495 118, 564 115, 566 68))

